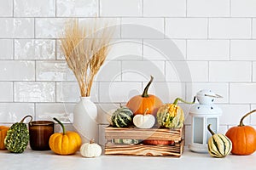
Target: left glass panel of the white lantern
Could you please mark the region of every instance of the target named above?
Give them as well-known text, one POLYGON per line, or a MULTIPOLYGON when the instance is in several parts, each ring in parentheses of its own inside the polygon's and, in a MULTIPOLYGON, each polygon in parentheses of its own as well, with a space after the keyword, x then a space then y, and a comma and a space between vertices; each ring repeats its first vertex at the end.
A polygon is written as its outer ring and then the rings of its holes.
POLYGON ((203 143, 203 129, 204 129, 204 119, 203 117, 194 117, 194 143, 203 143))

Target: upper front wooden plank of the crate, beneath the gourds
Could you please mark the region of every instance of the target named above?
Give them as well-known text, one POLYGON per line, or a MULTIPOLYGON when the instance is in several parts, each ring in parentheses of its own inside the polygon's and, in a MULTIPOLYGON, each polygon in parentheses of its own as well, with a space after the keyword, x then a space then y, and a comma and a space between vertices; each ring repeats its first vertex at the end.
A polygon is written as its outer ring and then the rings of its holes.
POLYGON ((106 139, 148 139, 148 140, 175 140, 183 139, 183 129, 167 129, 167 128, 117 128, 106 127, 106 139))

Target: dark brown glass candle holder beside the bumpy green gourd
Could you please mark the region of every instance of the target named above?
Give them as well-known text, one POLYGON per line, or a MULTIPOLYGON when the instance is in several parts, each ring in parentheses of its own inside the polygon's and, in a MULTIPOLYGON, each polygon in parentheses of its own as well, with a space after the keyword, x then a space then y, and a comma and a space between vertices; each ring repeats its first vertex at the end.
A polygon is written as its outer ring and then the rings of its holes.
POLYGON ((49 137, 55 132, 51 121, 32 121, 28 123, 29 141, 32 150, 50 150, 49 137))

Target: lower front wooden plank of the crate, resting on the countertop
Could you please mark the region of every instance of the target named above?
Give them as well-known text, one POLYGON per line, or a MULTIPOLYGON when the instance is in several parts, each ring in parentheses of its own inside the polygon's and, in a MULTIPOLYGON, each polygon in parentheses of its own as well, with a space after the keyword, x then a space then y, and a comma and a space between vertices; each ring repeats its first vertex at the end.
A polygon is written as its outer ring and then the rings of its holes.
POLYGON ((181 156, 183 141, 174 146, 145 144, 106 144, 105 155, 123 156, 181 156))

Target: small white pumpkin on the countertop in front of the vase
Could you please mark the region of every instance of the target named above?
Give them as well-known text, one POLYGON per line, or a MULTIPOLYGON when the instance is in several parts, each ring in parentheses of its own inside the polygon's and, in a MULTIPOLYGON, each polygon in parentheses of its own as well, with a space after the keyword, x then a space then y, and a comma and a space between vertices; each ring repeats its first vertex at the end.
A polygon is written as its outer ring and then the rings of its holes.
POLYGON ((82 144, 80 153, 84 157, 97 157, 102 155, 102 147, 94 143, 94 139, 90 139, 90 143, 82 144))

